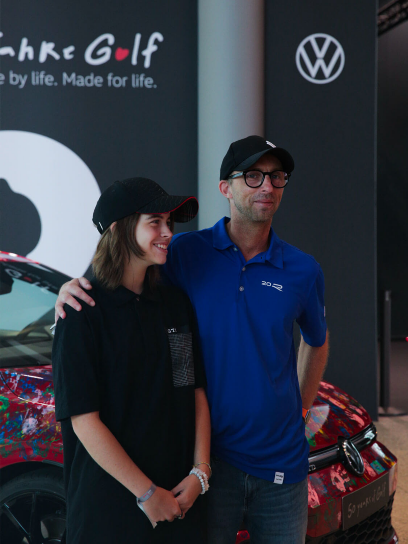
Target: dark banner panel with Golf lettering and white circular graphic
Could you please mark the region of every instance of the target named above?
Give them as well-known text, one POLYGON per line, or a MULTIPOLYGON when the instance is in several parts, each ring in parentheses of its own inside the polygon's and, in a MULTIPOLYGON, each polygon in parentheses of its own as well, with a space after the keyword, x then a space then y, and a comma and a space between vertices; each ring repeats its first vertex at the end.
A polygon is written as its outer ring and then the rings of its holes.
POLYGON ((109 184, 197 193, 196 3, 5 0, 0 30, 2 250, 81 275, 109 184))

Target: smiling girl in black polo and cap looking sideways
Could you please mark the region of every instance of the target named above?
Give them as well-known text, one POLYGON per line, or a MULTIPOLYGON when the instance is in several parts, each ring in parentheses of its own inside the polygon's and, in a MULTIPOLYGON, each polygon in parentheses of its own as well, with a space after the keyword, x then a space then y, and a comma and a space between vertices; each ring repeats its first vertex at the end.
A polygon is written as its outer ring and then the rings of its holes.
POLYGON ((95 305, 67 307, 53 345, 68 544, 204 542, 205 376, 187 296, 157 285, 172 221, 197 209, 146 178, 115 182, 97 202, 95 305))

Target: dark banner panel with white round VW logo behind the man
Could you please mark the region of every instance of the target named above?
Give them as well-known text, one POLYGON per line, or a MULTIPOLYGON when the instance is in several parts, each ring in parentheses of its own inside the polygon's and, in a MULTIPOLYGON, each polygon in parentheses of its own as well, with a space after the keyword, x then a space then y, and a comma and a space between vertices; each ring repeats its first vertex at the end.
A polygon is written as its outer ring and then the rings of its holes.
POLYGON ((266 2, 265 135, 295 170, 274 219, 326 283, 325 379, 376 416, 376 2, 266 2))

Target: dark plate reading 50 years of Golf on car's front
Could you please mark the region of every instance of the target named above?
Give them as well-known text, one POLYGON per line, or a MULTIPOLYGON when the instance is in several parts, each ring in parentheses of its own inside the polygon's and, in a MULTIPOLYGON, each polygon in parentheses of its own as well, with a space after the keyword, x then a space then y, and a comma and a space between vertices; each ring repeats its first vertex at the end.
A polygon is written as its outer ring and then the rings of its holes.
POLYGON ((372 483, 343 497, 343 530, 380 510, 388 503, 389 494, 387 472, 372 483))

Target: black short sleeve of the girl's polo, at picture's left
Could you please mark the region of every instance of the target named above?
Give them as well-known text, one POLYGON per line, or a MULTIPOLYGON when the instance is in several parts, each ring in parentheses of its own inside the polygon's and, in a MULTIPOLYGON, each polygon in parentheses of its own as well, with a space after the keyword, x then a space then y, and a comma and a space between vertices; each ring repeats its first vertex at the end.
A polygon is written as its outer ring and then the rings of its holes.
POLYGON ((55 327, 52 368, 57 421, 99 410, 97 349, 84 310, 65 307, 55 327))

